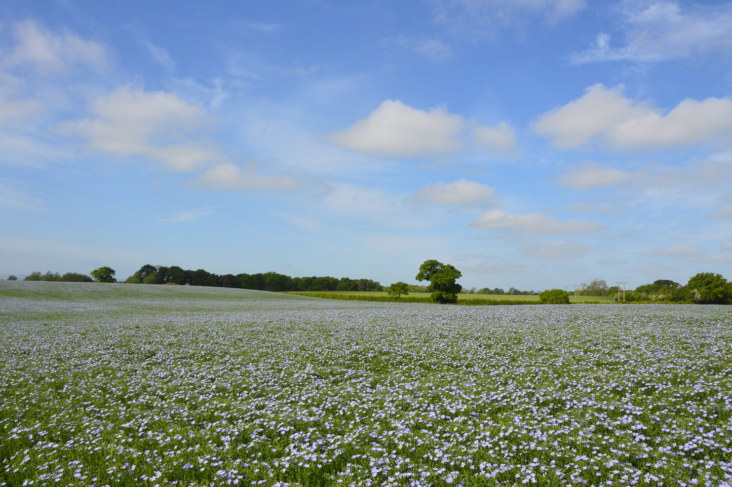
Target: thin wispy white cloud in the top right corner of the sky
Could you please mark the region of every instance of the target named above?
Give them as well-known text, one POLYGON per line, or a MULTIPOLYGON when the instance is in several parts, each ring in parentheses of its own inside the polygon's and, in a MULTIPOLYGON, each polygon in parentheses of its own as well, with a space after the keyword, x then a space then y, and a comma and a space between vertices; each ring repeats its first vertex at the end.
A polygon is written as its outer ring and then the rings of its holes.
MULTIPOLYGON (((575 64, 604 61, 660 62, 698 53, 732 49, 729 4, 681 12, 671 1, 626 2, 621 15, 624 45, 613 48, 610 35, 597 35, 594 48, 573 53, 575 64)), ((692 8, 692 7, 691 7, 692 8)))

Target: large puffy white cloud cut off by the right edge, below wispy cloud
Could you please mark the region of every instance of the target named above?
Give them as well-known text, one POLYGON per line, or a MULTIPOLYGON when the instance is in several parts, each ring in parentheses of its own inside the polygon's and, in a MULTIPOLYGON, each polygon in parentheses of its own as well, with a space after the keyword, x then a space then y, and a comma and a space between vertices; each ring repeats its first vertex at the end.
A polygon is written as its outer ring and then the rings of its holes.
POLYGON ((598 83, 582 97, 539 116, 534 132, 561 149, 600 141, 616 149, 690 146, 732 135, 732 100, 683 100, 668 113, 624 96, 624 86, 598 83))

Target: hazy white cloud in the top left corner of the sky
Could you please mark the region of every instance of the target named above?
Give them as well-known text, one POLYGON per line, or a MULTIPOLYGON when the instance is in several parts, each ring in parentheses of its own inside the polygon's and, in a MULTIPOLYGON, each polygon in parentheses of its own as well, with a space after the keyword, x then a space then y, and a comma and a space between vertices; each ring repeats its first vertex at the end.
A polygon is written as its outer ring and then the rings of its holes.
POLYGON ((97 70, 108 65, 104 45, 72 32, 56 35, 34 21, 15 23, 13 31, 17 44, 3 56, 4 64, 31 66, 43 75, 68 73, 80 65, 97 70))

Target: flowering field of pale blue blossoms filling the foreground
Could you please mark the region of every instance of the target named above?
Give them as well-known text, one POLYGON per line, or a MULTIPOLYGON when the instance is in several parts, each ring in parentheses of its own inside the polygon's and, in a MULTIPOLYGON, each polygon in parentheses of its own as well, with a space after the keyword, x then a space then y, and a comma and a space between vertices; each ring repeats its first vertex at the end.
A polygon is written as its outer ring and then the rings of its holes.
POLYGON ((0 281, 1 486, 731 486, 732 307, 0 281))

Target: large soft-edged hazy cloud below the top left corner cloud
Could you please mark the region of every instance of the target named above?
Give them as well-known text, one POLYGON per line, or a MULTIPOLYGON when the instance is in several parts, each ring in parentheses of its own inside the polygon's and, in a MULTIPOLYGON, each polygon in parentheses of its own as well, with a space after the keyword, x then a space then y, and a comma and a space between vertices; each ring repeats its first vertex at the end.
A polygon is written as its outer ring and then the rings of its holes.
POLYGON ((196 137, 208 116, 176 94, 144 92, 123 86, 98 98, 91 106, 94 119, 63 122, 65 135, 86 138, 90 151, 159 160, 177 171, 193 171, 225 157, 196 137))

